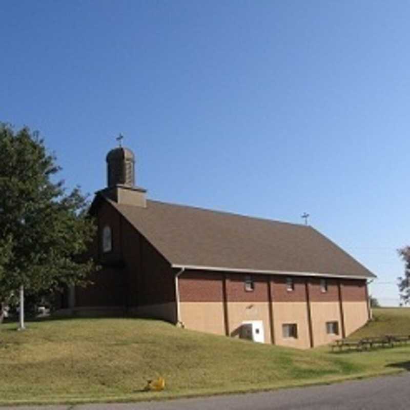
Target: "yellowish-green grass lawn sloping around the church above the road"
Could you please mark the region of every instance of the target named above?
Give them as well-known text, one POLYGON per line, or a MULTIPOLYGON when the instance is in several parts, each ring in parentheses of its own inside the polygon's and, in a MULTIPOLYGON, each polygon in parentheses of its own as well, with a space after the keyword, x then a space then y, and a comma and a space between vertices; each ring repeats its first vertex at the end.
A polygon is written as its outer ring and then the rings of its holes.
MULTIPOLYGON (((380 309, 375 317, 354 337, 410 333, 410 309, 380 309)), ((398 372, 410 360, 410 345, 299 351, 131 318, 46 320, 28 323, 25 332, 15 329, 15 323, 0 326, 0 404, 134 401, 330 383, 398 372), (165 391, 141 392, 159 375, 165 391)))

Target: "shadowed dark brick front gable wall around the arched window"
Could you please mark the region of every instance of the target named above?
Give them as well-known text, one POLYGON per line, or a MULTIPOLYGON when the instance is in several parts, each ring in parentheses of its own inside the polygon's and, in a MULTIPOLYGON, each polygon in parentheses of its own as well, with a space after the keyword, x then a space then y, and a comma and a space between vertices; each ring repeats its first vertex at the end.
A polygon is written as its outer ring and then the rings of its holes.
POLYGON ((131 308, 175 301, 169 262, 110 203, 101 201, 95 217, 98 233, 90 251, 102 269, 90 276, 93 285, 76 288, 76 305, 131 308), (106 225, 112 232, 112 251, 103 253, 106 225))

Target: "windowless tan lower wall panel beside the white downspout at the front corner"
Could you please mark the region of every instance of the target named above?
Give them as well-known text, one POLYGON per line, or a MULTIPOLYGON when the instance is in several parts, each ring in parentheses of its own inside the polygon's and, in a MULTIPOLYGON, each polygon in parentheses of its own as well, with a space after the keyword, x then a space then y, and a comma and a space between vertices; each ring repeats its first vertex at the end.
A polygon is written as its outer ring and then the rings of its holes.
POLYGON ((181 302, 180 315, 186 329, 225 334, 222 302, 181 302))

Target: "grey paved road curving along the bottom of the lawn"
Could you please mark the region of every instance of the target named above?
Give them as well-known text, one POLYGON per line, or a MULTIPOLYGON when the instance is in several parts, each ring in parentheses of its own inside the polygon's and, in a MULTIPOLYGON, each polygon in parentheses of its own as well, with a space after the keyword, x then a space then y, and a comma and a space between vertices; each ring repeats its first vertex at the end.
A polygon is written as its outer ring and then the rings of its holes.
POLYGON ((408 410, 410 373, 276 392, 127 404, 0 407, 1 410, 408 410))

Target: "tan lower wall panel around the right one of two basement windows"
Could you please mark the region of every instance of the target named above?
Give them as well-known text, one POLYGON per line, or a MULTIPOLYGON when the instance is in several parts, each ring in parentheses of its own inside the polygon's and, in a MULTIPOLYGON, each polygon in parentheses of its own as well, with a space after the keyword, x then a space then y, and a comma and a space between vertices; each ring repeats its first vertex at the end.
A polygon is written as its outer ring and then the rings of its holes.
POLYGON ((339 302, 311 302, 311 317, 314 346, 331 343, 342 337, 339 302), (339 335, 326 333, 326 322, 339 323, 339 335))

